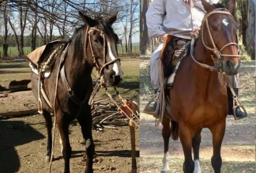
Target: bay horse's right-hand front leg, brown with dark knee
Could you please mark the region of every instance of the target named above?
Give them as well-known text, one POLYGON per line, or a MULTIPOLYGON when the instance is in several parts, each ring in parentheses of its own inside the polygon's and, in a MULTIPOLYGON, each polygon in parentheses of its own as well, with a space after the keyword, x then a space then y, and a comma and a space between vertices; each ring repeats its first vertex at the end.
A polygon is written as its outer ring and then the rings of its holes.
POLYGON ((223 119, 221 122, 217 123, 213 128, 210 129, 213 136, 213 156, 211 159, 212 167, 214 173, 220 173, 220 168, 222 166, 222 158, 220 154, 221 145, 223 137, 225 134, 226 119, 223 119))

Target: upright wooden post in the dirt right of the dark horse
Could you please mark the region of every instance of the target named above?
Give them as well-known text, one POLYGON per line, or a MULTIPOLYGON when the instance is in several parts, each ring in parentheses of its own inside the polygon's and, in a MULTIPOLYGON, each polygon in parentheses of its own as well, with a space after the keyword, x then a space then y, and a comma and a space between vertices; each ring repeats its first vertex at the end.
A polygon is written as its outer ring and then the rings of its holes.
POLYGON ((136 163, 136 148, 135 148, 135 124, 132 120, 129 121, 130 125, 130 138, 131 138, 131 148, 132 148, 132 173, 137 173, 137 163, 136 163))

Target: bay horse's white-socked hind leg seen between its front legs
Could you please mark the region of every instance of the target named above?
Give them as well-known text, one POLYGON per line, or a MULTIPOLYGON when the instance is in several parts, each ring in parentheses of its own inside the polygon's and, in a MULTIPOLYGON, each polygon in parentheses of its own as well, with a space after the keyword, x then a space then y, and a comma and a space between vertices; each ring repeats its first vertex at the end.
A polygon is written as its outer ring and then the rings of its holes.
POLYGON ((194 172, 193 173, 201 173, 201 168, 199 164, 199 147, 201 143, 201 131, 202 129, 197 131, 192 141, 192 147, 193 147, 193 153, 194 153, 194 172))

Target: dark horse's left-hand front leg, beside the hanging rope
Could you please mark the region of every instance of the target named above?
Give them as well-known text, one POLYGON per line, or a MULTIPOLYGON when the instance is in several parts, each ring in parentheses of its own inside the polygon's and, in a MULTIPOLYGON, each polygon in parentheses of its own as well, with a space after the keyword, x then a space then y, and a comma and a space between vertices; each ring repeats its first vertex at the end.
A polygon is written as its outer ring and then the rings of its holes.
POLYGON ((59 114, 57 114, 57 126, 59 129, 59 134, 61 137, 63 147, 62 156, 64 158, 64 173, 70 173, 69 161, 71 157, 71 146, 69 143, 69 123, 70 121, 66 118, 65 115, 59 116, 59 114), (60 118, 58 119, 58 117, 60 118))

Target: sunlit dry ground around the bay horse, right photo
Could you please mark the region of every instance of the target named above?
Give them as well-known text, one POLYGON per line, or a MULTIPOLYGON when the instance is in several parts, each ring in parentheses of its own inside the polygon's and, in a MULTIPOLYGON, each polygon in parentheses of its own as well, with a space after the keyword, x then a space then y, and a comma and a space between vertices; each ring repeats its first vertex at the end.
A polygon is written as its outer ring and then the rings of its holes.
MULTIPOLYGON (((140 60, 140 108, 141 112, 152 96, 149 82, 149 59, 140 60), (142 77, 143 76, 143 77, 142 77)), ((223 173, 254 173, 255 169, 255 61, 243 61, 240 70, 240 101, 244 104, 248 117, 235 121, 227 118, 226 132, 222 145, 223 173)), ((161 125, 154 127, 155 119, 148 114, 140 114, 140 172, 160 172, 164 144, 161 125)), ((182 171, 184 162, 180 141, 169 142, 170 172, 182 171)), ((208 129, 202 131, 200 148, 200 164, 202 172, 213 172, 210 158, 212 157, 212 135, 208 129)))

